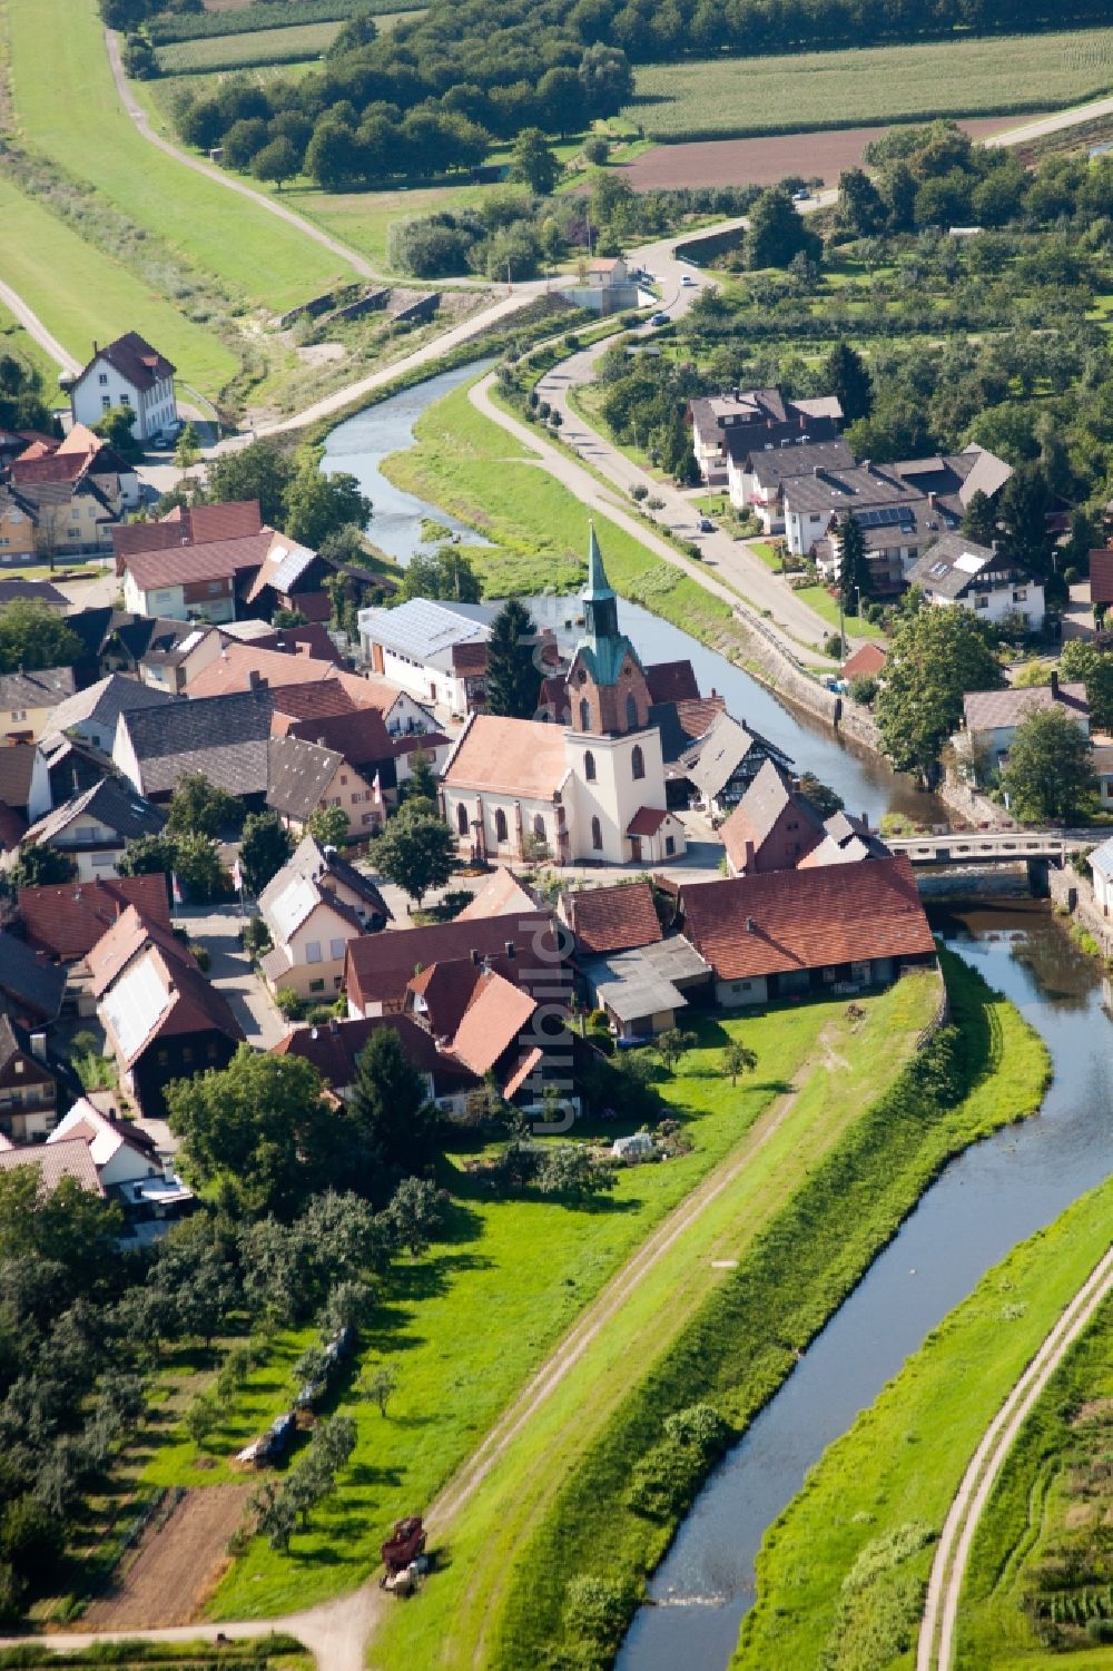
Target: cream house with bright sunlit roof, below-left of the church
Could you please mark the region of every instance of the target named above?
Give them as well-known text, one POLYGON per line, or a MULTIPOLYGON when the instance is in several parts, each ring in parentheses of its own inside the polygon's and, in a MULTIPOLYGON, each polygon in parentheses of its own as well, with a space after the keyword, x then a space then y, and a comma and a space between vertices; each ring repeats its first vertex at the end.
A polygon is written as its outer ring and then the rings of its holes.
POLYGON ((349 942, 389 917, 374 884, 313 837, 262 889, 259 911, 271 934, 259 964, 271 991, 321 1003, 343 984, 349 942))

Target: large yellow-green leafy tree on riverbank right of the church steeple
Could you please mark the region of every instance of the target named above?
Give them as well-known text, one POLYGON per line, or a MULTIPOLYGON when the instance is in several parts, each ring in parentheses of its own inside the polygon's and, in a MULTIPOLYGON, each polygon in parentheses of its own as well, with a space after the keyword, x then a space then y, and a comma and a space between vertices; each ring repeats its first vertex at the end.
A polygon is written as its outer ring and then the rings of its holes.
POLYGON ((1001 667, 986 628, 966 608, 921 608, 901 623, 877 693, 877 729, 901 772, 931 785, 939 754, 963 719, 969 690, 999 690, 1001 667))

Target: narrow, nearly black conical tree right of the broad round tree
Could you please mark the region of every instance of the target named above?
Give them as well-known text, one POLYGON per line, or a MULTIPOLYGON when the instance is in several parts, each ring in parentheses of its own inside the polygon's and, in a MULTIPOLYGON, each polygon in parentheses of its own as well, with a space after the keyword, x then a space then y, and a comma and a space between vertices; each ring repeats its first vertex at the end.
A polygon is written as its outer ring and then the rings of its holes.
MULTIPOLYGON (((386 1205, 399 1178, 433 1160, 440 1116, 393 1028, 378 1028, 359 1056, 346 1125, 353 1186, 373 1201, 386 1205)), ((404 1196, 394 1228, 409 1223, 414 1206, 404 1196)))

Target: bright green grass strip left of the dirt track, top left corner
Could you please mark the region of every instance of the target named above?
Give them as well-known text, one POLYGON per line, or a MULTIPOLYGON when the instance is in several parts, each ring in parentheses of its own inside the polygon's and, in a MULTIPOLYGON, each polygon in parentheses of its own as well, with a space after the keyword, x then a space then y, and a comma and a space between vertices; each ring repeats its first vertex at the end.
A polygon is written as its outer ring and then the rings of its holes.
MULTIPOLYGON (((269 309, 353 277, 296 227, 142 139, 117 97, 95 0, 10 0, 8 27, 22 140, 90 180, 194 267, 269 309), (74 144, 75 134, 90 142, 74 144)), ((142 316, 130 323, 145 329, 142 316)))

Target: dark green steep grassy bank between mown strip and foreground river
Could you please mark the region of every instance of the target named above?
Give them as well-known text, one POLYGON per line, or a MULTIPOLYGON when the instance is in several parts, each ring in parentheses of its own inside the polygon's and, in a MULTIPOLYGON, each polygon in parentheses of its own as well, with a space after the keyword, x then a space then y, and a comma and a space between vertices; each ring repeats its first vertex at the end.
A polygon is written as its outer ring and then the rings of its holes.
MULTIPOLYGON (((1038 1106, 1048 1073, 1041 1041, 973 971, 946 962, 959 1028, 954 1074, 944 1074, 943 1046, 933 1046, 887 1093, 877 1078, 859 1088, 857 1118, 829 1153, 807 1148, 797 1156, 797 1186, 785 1191, 774 1222, 675 1345, 630 1387, 578 1465, 562 1472, 531 1536, 506 1552, 501 1596, 488 1606, 485 1626, 491 1648, 483 1664, 491 1671, 541 1664, 543 1644, 556 1639, 583 1664, 608 1663, 640 1581, 663 1554, 702 1472, 682 1457, 670 1459, 680 1482, 673 1512, 650 1519, 632 1506, 632 1474, 658 1445, 665 1419, 702 1402, 740 1432, 946 1158, 1038 1106), (948 1078, 969 1086, 954 1106, 943 1106, 929 1091, 948 1078), (583 1618, 573 1624, 565 1614, 570 1586, 588 1576, 603 1581, 610 1597, 607 1618, 595 1628, 583 1618)), ((874 1053, 874 1073, 877 1059, 874 1053)), ((839 1074, 829 1110, 846 1095, 844 1084, 839 1074)))

